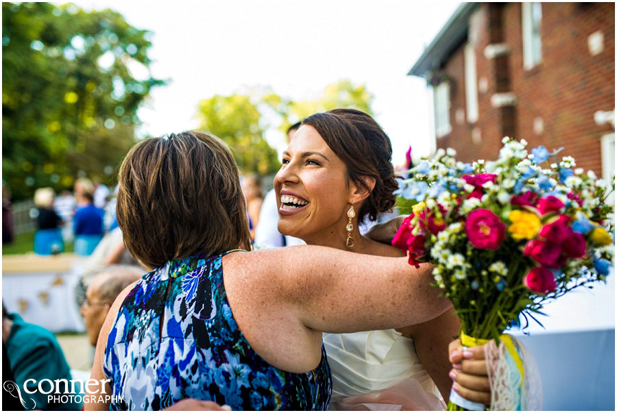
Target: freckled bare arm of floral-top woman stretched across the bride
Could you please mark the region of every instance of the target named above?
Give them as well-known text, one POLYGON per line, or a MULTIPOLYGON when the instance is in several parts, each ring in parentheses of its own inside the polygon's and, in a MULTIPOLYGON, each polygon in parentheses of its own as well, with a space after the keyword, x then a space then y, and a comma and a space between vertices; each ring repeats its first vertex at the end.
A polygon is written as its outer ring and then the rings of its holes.
POLYGON ((234 255, 236 271, 267 279, 280 309, 295 312, 294 318, 315 331, 404 327, 431 320, 451 306, 429 285, 432 266, 413 268, 406 258, 314 246, 234 255))

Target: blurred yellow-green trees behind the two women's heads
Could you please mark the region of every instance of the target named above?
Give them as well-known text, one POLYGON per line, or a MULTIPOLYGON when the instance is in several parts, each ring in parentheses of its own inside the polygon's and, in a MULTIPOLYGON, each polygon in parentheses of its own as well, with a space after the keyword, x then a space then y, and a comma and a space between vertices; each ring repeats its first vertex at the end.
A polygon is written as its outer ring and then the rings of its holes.
POLYGON ((215 95, 199 102, 197 117, 202 129, 232 147, 243 173, 269 175, 278 171, 280 162, 264 138, 266 132, 278 129, 285 133, 306 116, 335 108, 354 108, 372 115, 372 99, 364 85, 342 80, 326 86, 315 100, 293 101, 270 89, 215 95))

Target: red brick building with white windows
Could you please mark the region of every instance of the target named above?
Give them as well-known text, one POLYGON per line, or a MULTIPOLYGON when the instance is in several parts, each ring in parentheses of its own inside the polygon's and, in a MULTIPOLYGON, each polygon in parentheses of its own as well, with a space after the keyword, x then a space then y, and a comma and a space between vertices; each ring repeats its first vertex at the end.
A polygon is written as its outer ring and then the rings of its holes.
POLYGON ((463 3, 409 75, 433 87, 438 148, 496 159, 501 138, 615 169, 614 3, 463 3))

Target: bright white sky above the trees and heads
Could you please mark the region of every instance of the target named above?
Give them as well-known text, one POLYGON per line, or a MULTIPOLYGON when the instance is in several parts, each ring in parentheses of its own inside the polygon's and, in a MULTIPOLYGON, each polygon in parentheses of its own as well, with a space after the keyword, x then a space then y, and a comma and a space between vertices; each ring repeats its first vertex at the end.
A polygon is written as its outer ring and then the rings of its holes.
MULTIPOLYGON (((111 8, 153 32, 154 88, 138 112, 141 134, 160 136, 198 126, 197 103, 245 86, 311 99, 339 79, 366 84, 393 143, 394 164, 433 151, 428 89, 407 76, 459 6, 458 1, 75 1, 111 8)), ((136 70, 137 72, 137 70, 136 70)), ((281 133, 269 143, 285 149, 281 133)))

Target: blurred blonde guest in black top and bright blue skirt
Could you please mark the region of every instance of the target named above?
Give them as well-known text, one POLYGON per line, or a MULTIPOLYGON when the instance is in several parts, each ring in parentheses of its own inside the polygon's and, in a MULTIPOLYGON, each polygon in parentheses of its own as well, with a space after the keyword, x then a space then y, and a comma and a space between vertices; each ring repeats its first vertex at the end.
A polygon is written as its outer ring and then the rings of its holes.
POLYGON ((40 255, 57 254, 64 251, 62 240, 62 218, 53 210, 53 189, 38 188, 34 191, 36 205, 36 232, 34 233, 34 253, 40 255))

